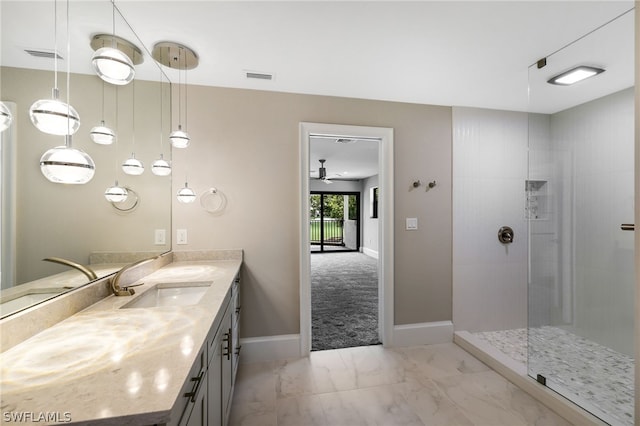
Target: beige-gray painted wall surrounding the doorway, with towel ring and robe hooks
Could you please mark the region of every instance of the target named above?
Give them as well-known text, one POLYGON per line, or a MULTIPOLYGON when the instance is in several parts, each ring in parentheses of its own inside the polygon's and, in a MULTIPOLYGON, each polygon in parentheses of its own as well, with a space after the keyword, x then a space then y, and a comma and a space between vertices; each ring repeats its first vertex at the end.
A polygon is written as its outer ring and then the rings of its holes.
POLYGON ((213 216, 174 201, 174 232, 188 230, 188 244, 174 249, 243 248, 242 336, 298 334, 303 121, 394 128, 394 323, 451 320, 448 107, 194 86, 192 141, 174 150, 174 192, 188 173, 189 186, 215 186, 228 205, 213 216), (438 186, 409 191, 417 177, 438 186), (420 229, 405 231, 405 217, 418 217, 420 229))

